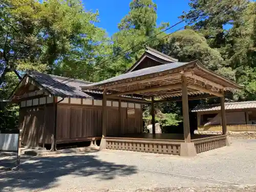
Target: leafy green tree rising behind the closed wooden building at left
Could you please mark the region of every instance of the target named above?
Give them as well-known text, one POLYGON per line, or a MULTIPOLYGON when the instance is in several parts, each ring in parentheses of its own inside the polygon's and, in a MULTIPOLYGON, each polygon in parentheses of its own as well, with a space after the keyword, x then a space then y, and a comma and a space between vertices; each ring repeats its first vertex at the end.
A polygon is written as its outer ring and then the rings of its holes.
MULTIPOLYGON (((109 45, 105 31, 95 26, 97 12, 78 0, 0 2, 0 99, 9 97, 28 70, 93 79, 90 72, 109 45)), ((3 126, 13 127, 17 110, 1 109, 3 126)))

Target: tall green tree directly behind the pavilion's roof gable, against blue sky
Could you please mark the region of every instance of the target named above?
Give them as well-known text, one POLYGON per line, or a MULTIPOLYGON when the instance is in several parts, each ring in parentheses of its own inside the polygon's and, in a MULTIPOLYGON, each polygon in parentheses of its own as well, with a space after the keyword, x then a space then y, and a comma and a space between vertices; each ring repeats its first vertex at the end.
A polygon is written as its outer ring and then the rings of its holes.
POLYGON ((125 72, 143 54, 146 45, 156 47, 164 42, 161 38, 164 34, 155 35, 169 24, 157 26, 156 20, 157 5, 152 0, 135 0, 130 3, 129 13, 121 19, 119 31, 111 39, 113 45, 110 57, 117 58, 111 61, 111 65, 101 66, 109 72, 103 78, 125 72))

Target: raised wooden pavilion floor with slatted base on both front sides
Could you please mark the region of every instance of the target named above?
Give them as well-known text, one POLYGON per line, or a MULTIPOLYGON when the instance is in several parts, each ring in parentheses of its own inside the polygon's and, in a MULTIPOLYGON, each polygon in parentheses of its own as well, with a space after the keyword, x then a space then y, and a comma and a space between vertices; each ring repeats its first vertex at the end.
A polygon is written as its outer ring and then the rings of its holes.
MULTIPOLYGON (((147 153, 180 155, 183 134, 126 134, 118 137, 105 137, 106 148, 147 153)), ((226 145, 225 135, 191 135, 196 152, 202 153, 226 145)))

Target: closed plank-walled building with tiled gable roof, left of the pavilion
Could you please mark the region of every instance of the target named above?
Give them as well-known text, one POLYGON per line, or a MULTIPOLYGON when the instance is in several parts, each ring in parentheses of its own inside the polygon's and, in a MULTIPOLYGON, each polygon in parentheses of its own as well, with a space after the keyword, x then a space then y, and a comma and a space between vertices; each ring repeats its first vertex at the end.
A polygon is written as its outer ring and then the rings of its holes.
MULTIPOLYGON (((81 91, 91 82, 30 72, 10 96, 20 103, 19 129, 29 147, 101 139, 102 92, 81 91)), ((141 133, 141 104, 148 101, 119 97, 106 101, 110 134, 141 133)))

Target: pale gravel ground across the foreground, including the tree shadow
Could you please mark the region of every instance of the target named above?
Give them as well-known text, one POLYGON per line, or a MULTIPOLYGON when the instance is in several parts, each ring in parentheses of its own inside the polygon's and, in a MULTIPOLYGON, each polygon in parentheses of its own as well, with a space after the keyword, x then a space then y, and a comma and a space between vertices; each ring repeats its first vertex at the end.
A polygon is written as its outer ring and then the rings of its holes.
POLYGON ((23 157, 0 191, 256 191, 256 140, 194 158, 125 151, 23 157), (252 185, 252 186, 251 186, 252 185))

